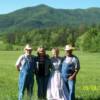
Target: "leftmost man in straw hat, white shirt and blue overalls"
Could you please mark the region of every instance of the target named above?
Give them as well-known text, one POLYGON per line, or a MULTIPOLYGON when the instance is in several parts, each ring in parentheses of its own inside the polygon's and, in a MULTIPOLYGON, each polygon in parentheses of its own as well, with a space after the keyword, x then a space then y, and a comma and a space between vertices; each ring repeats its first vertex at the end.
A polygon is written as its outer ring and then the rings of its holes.
POLYGON ((35 71, 35 57, 31 55, 32 47, 27 44, 24 48, 25 54, 21 55, 17 62, 16 67, 19 71, 19 97, 22 100, 24 91, 27 89, 28 100, 32 100, 33 84, 34 84, 34 71, 35 71))

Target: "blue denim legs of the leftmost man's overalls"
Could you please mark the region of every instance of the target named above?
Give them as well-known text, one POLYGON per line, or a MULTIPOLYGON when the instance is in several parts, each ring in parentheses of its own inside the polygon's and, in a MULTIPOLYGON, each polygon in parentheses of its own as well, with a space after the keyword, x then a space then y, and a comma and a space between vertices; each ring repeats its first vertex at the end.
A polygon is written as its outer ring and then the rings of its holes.
POLYGON ((32 100, 34 78, 32 75, 26 75, 26 72, 21 72, 19 75, 19 97, 18 100, 22 100, 24 91, 27 89, 27 95, 29 100, 32 100))

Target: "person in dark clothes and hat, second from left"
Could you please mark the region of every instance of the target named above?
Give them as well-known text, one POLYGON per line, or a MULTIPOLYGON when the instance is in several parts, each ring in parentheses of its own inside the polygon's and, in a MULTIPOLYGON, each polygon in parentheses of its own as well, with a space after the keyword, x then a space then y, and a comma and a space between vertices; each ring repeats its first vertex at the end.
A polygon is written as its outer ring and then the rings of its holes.
POLYGON ((36 57, 36 80, 38 86, 38 99, 46 99, 48 79, 50 77, 51 60, 46 54, 44 47, 37 49, 36 57))

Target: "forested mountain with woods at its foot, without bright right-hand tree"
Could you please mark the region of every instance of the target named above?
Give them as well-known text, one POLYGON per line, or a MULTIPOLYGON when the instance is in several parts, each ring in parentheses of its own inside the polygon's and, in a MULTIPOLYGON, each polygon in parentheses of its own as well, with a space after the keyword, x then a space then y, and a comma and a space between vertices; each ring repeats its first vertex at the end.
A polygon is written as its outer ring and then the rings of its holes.
POLYGON ((10 44, 75 45, 77 38, 91 28, 99 31, 100 8, 55 9, 38 5, 0 15, 0 39, 10 44))

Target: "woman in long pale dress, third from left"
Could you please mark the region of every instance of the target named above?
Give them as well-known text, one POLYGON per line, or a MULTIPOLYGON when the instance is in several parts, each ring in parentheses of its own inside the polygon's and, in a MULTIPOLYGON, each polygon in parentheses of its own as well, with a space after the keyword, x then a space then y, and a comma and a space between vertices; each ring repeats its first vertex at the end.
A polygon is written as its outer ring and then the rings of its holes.
POLYGON ((61 62, 59 49, 52 49, 52 73, 48 81, 47 100, 68 100, 68 90, 61 76, 61 62))

